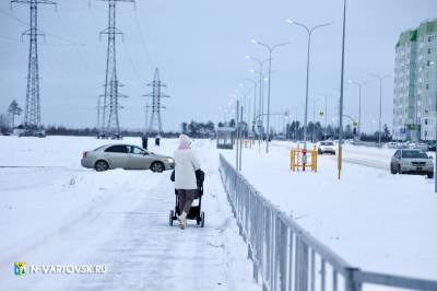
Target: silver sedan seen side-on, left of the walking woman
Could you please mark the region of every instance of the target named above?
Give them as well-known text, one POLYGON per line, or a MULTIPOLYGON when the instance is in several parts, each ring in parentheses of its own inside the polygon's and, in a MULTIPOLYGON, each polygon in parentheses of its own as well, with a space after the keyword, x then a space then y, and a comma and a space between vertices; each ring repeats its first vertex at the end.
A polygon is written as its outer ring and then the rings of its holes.
POLYGON ((152 170, 163 172, 175 167, 172 156, 149 152, 132 144, 106 144, 83 153, 81 164, 97 172, 110 168, 152 170))

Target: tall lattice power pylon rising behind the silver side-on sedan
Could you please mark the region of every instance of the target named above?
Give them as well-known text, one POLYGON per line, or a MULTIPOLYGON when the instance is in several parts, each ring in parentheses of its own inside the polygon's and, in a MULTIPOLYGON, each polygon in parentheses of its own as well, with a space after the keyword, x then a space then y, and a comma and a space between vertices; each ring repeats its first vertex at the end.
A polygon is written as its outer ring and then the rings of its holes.
POLYGON ((106 78, 103 104, 102 128, 99 136, 121 138, 120 123, 118 118, 118 98, 127 97, 118 92, 122 84, 117 79, 117 58, 116 58, 116 36, 122 35, 116 27, 116 5, 117 2, 134 2, 134 0, 103 0, 108 2, 108 27, 101 32, 108 36, 108 48, 106 56, 106 78))

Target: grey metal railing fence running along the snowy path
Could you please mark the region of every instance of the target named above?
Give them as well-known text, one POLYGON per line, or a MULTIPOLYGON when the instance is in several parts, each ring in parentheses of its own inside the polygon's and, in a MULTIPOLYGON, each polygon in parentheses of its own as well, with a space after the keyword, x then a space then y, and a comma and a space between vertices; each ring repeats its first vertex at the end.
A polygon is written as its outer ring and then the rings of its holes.
POLYGON ((362 271, 257 191, 220 155, 222 182, 263 290, 362 291, 364 284, 437 291, 437 281, 362 271))

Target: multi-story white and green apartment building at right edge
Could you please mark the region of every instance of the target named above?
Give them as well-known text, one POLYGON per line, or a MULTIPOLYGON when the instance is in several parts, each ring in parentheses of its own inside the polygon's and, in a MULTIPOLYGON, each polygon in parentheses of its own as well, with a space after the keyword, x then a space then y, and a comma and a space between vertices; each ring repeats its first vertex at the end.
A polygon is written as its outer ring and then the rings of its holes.
POLYGON ((435 140, 437 20, 403 32, 395 46, 393 139, 435 140))

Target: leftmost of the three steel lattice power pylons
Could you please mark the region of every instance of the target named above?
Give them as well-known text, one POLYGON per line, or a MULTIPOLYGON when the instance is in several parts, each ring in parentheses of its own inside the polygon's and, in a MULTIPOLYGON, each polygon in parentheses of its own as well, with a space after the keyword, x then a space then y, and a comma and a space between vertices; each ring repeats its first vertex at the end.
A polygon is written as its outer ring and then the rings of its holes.
POLYGON ((29 28, 22 34, 29 37, 24 127, 27 130, 39 130, 42 125, 38 71, 38 36, 44 36, 44 34, 38 31, 38 4, 56 5, 56 2, 49 0, 11 0, 11 5, 13 3, 28 4, 31 8, 29 28))

